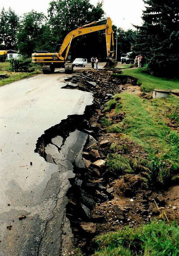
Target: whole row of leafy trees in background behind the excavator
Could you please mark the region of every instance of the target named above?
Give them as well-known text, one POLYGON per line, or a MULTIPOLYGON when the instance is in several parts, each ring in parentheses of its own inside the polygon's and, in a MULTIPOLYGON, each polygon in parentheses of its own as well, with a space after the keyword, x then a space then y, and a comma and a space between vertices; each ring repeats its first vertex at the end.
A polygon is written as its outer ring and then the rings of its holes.
MULTIPOLYGON (((49 3, 48 16, 31 11, 18 17, 14 11, 4 8, 0 14, 0 44, 5 49, 19 49, 20 54, 30 57, 36 50, 54 52, 56 44, 62 44, 65 36, 79 26, 103 19, 102 1, 96 6, 90 0, 54 0, 49 3)), ((98 24, 104 24, 105 21, 98 24)), ((113 25, 116 43, 116 26, 113 25)), ((130 51, 133 44, 132 30, 118 28, 118 60, 123 52, 130 51)), ((115 45, 116 49, 116 45, 115 45)), ((114 49, 114 50, 115 50, 114 49)), ((105 31, 79 36, 71 43, 72 58, 91 56, 106 58, 105 31)))

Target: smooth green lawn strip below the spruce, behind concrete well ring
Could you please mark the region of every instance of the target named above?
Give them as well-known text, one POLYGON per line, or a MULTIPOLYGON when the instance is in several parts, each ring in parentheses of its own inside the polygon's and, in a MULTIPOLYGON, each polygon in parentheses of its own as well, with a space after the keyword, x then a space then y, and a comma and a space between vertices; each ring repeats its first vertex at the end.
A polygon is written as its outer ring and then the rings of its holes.
POLYGON ((138 84, 141 84, 143 92, 151 92, 153 89, 175 90, 179 89, 179 79, 167 79, 155 77, 143 73, 146 68, 125 69, 123 74, 116 74, 116 76, 133 76, 138 78, 138 84))

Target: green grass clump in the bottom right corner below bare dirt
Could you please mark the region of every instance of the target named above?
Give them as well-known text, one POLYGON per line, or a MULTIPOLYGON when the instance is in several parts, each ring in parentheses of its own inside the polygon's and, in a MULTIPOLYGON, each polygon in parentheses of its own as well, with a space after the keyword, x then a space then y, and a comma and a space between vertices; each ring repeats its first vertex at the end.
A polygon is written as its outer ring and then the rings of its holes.
POLYGON ((136 230, 109 232, 95 238, 97 250, 93 256, 177 256, 179 255, 179 228, 154 220, 136 230))

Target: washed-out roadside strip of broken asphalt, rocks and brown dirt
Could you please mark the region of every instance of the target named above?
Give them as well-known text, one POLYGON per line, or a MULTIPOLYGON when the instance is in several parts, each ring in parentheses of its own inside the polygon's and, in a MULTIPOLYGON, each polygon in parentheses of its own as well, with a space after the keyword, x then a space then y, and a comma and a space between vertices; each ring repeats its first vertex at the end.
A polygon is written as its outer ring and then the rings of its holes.
MULTIPOLYGON (((71 188, 67 194, 66 216, 82 251, 90 255, 92 238, 101 232, 115 231, 125 225, 135 228, 152 218, 179 220, 178 186, 168 190, 156 188, 152 182, 148 183, 148 170, 142 165, 136 166, 131 174, 122 174, 106 166, 106 159, 114 152, 114 143, 120 155, 128 156, 132 163, 147 158, 147 153, 122 133, 107 132, 101 126, 105 103, 114 94, 124 91, 145 99, 151 99, 151 95, 140 92, 137 79, 116 78, 110 71, 78 71, 67 80, 64 88, 77 88, 94 95, 91 113, 86 116, 89 139, 82 158, 74 162, 76 175, 70 179, 71 188)), ((124 116, 121 111, 116 121, 121 122, 124 116)))

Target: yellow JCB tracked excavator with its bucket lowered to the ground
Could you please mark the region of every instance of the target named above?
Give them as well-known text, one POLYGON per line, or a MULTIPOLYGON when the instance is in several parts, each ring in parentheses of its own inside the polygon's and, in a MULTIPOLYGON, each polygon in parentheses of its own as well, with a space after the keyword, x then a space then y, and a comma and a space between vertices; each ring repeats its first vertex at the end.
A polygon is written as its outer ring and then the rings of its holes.
POLYGON ((84 26, 78 27, 77 29, 71 31, 64 39, 63 44, 60 47, 59 52, 57 49, 59 48, 59 44, 56 45, 55 53, 48 53, 47 51, 36 51, 32 54, 32 62, 33 63, 43 63, 42 71, 43 74, 54 73, 55 68, 65 68, 65 74, 73 73, 73 65, 68 58, 68 53, 71 46, 71 41, 77 36, 82 36, 88 33, 92 33, 95 31, 99 31, 105 29, 106 33, 106 48, 107 48, 107 63, 104 68, 114 68, 117 66, 117 61, 114 57, 114 36, 112 30, 112 21, 108 17, 106 19, 93 21, 84 26), (107 20, 106 24, 93 26, 98 22, 103 20, 107 20), (112 38, 112 46, 113 51, 110 51, 111 48, 111 38, 112 38), (66 51, 65 51, 66 50, 66 51))

